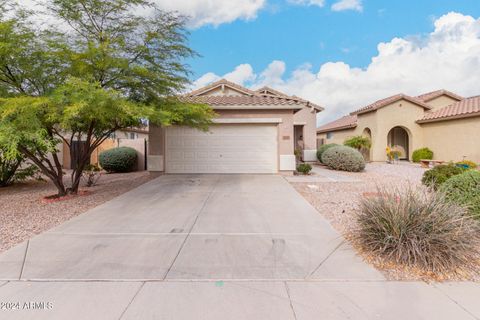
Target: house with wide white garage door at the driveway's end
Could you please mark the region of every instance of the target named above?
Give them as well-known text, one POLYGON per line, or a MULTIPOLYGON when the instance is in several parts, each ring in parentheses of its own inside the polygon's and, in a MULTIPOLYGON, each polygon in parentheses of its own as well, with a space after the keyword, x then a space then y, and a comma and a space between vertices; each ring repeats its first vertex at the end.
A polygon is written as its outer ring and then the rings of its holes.
POLYGON ((323 109, 271 88, 253 91, 220 80, 182 97, 217 113, 208 132, 150 126, 150 171, 291 173, 295 149, 315 161, 316 115, 323 109))

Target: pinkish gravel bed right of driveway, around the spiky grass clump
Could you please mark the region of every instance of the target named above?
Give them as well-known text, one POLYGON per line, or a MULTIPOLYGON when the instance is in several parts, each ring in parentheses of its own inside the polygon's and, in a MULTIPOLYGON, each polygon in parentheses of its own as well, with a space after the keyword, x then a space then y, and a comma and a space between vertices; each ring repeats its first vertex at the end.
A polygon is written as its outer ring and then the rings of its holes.
MULTIPOLYGON (((314 176, 309 181, 290 183, 300 192, 332 226, 341 232, 353 246, 352 234, 357 228, 356 214, 359 198, 376 194, 377 186, 401 187, 402 185, 420 185, 425 169, 419 165, 400 162, 395 165, 369 163, 364 172, 340 172, 315 166, 314 176), (324 176, 337 175, 352 179, 323 179, 324 176), (318 177, 318 178, 316 178, 318 177)), ((478 280, 478 270, 458 270, 455 274, 425 274, 420 270, 400 267, 386 263, 381 259, 360 252, 365 260, 384 272, 390 280, 478 280)))

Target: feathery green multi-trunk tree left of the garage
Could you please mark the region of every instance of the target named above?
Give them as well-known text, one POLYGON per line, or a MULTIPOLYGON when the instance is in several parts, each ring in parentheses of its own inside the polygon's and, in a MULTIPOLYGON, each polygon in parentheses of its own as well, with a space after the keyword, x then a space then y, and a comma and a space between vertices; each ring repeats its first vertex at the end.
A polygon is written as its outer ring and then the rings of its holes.
POLYGON ((10 96, 0 101, 0 145, 34 162, 59 195, 78 191, 91 153, 116 130, 145 119, 208 128, 209 107, 176 98, 188 84, 182 61, 195 55, 183 17, 143 0, 51 0, 48 8, 70 28, 37 32, 20 19, 2 22, 0 82, 10 96), (151 16, 132 13, 138 6, 151 16), (57 155, 62 141, 84 143, 69 187, 57 155))

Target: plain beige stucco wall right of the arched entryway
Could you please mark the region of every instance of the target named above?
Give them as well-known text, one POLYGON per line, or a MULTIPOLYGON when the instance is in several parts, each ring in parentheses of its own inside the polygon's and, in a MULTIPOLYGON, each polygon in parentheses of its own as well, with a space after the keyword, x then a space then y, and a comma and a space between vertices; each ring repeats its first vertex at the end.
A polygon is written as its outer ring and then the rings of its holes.
POLYGON ((434 159, 445 161, 468 160, 480 163, 480 117, 425 123, 425 146, 434 159))

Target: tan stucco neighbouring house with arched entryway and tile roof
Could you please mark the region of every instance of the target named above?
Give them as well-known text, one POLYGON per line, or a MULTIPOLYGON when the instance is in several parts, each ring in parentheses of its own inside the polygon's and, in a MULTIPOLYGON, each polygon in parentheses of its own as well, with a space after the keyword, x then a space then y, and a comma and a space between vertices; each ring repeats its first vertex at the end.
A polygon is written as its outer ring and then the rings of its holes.
POLYGON ((406 160, 414 150, 428 147, 438 160, 480 162, 479 133, 480 96, 463 98, 446 90, 388 97, 317 129, 319 144, 370 137, 372 161, 385 161, 385 149, 391 146, 406 160))

